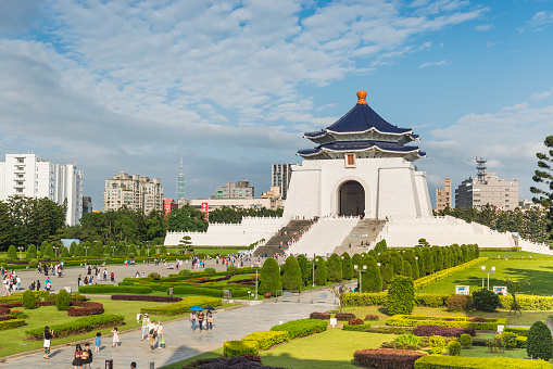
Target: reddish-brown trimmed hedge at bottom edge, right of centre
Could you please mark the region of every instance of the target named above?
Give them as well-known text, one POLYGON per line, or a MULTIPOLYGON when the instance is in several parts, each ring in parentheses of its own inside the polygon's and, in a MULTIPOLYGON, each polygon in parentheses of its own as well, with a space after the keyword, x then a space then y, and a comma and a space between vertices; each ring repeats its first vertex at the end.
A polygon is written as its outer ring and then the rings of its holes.
POLYGON ((418 358, 426 355, 410 349, 366 348, 356 351, 353 359, 365 368, 411 369, 418 358))

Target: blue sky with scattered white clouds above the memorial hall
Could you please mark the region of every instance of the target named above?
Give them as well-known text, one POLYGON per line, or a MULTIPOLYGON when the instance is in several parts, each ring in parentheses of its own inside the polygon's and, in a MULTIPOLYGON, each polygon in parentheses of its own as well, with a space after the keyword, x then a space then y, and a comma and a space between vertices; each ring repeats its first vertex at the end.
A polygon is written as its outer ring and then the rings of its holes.
POLYGON ((356 91, 413 128, 436 187, 488 170, 530 199, 553 135, 553 1, 0 0, 0 157, 118 171, 186 198, 301 163, 356 91))

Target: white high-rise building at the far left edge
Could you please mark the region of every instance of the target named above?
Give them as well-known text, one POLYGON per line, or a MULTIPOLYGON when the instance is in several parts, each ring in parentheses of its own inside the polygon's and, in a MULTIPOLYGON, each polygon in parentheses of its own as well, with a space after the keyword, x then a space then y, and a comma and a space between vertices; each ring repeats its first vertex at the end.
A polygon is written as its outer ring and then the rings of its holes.
POLYGON ((54 164, 36 154, 7 154, 0 162, 0 200, 9 196, 47 198, 67 202, 65 222, 75 226, 83 216, 83 171, 76 164, 54 164))

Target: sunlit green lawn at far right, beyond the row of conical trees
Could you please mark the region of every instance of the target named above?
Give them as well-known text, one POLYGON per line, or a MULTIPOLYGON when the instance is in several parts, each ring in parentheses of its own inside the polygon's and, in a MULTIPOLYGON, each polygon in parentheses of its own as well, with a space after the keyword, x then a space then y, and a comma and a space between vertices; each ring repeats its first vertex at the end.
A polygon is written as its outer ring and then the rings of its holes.
POLYGON ((508 277, 510 279, 530 282, 529 285, 524 285, 518 293, 541 296, 553 295, 553 259, 488 259, 417 292, 455 293, 455 285, 470 285, 470 292, 477 291, 482 288, 482 278, 485 279, 485 285, 488 285, 488 275, 480 270, 480 266, 486 266, 488 270, 492 266, 495 267, 495 271, 490 273, 490 289, 493 285, 505 285, 505 279, 508 277))

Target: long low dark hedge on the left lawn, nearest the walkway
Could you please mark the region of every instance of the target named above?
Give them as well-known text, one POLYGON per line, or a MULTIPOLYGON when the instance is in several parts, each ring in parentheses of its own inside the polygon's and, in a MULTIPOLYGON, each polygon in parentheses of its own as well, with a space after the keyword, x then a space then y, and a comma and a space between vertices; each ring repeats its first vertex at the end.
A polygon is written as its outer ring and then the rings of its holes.
MULTIPOLYGON (((58 339, 67 335, 90 332, 99 328, 121 326, 122 323, 124 323, 124 320, 125 317, 122 315, 114 314, 91 315, 89 317, 78 318, 71 322, 50 326, 50 329, 53 330, 54 339, 58 339)), ((45 333, 43 327, 25 331, 27 340, 42 340, 43 333, 45 333)))

